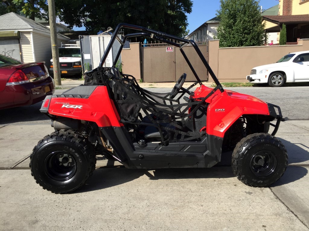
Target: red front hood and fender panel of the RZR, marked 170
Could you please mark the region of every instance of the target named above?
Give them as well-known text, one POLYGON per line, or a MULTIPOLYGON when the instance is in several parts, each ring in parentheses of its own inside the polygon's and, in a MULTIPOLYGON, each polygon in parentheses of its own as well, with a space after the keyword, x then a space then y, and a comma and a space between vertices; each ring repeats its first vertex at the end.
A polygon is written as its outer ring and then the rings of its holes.
MULTIPOLYGON (((205 97, 212 88, 202 85, 195 90, 194 98, 205 97)), ((210 103, 207 109, 206 132, 209 135, 223 137, 226 130, 244 114, 269 115, 267 104, 251 95, 234 91, 217 90, 206 99, 210 103)))

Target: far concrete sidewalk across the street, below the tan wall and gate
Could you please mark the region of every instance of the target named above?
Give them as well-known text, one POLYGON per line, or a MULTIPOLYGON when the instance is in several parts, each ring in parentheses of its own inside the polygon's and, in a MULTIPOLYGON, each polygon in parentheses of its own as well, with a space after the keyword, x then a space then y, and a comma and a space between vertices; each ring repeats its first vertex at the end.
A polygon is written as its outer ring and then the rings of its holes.
MULTIPOLYGON (((83 84, 84 81, 78 80, 78 79, 69 79, 66 78, 66 80, 61 80, 61 86, 56 86, 57 88, 71 88, 71 87, 77 87, 81 84, 83 84)), ((190 87, 194 82, 184 82, 183 87, 188 88, 190 87)), ((157 88, 157 87, 164 87, 164 88, 173 88, 175 86, 175 82, 167 82, 167 83, 139 83, 138 84, 142 87, 150 87, 150 88, 157 88)), ((203 84, 207 87, 211 86, 211 82, 203 82, 203 84)), ((193 88, 195 89, 195 88, 193 88)))

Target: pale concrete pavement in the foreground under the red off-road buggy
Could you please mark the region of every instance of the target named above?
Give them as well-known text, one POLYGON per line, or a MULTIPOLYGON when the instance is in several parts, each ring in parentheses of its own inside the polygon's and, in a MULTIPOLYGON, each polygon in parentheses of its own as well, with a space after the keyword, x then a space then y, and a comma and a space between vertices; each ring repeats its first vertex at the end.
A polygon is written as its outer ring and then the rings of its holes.
POLYGON ((63 195, 29 170, 50 124, 1 126, 0 230, 309 230, 308 120, 280 124, 289 166, 271 188, 244 185, 229 166, 146 171, 98 157, 87 184, 63 195))

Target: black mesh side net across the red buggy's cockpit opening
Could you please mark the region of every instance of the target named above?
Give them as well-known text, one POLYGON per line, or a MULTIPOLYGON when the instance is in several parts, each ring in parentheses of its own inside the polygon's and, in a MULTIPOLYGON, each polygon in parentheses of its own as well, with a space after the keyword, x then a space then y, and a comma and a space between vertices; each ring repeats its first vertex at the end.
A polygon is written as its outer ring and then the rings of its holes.
POLYGON ((150 126, 153 124, 161 129, 162 141, 169 143, 193 140, 205 135, 205 132, 196 131, 193 118, 202 100, 180 103, 179 99, 184 92, 180 92, 178 99, 170 99, 170 93, 147 91, 134 78, 125 76, 113 78, 111 85, 122 121, 134 124, 143 120, 150 126))

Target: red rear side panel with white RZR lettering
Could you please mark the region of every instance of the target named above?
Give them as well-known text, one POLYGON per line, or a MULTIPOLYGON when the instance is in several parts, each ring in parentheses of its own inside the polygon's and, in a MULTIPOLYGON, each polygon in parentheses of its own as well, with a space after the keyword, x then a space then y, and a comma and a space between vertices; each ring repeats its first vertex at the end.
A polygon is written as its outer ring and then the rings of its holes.
POLYGON ((99 127, 120 127, 120 117, 106 86, 98 86, 88 99, 52 98, 49 114, 95 122, 99 127), (78 105, 81 108, 66 108, 63 105, 78 105))

